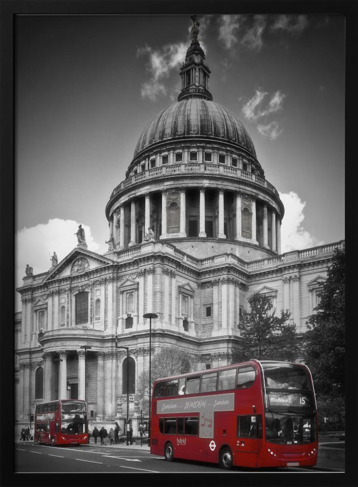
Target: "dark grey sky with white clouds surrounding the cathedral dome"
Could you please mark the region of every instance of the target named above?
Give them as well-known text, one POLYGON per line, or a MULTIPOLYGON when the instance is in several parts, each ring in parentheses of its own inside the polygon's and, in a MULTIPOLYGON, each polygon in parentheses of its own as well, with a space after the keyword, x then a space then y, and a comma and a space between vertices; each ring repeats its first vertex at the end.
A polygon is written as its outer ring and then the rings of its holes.
MULTIPOLYGON (((198 18, 214 101, 254 143, 285 206, 282 252, 344 239, 344 17, 198 18)), ((16 31, 16 286, 105 207, 145 125, 177 100, 189 16, 20 16, 16 31)), ((18 295, 18 293, 16 293, 18 295)), ((16 311, 21 309, 16 300, 16 311)))

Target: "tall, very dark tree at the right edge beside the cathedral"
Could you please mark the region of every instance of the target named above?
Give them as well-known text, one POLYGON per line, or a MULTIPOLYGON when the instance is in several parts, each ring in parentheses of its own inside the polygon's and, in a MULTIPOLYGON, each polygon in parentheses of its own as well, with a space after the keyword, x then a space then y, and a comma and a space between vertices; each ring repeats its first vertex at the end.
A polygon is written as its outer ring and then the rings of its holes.
POLYGON ((321 302, 307 322, 305 363, 317 395, 344 396, 345 251, 336 250, 323 284, 321 302))

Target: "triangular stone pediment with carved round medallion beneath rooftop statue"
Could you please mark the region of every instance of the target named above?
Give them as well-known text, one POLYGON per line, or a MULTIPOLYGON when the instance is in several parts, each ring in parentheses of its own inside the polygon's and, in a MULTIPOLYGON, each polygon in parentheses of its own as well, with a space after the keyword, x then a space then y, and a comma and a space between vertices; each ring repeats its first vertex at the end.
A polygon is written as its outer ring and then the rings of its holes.
POLYGON ((44 281, 58 279, 65 276, 75 276, 90 270, 112 264, 113 261, 87 249, 74 248, 54 269, 44 281))

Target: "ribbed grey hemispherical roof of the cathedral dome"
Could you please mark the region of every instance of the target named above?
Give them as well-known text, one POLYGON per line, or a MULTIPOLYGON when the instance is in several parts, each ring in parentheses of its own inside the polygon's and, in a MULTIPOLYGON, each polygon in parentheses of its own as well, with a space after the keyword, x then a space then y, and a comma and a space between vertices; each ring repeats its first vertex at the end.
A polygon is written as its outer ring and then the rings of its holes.
POLYGON ((203 97, 183 98, 162 110, 143 130, 134 158, 142 150, 183 137, 229 142, 256 158, 251 137, 240 120, 227 108, 203 97))

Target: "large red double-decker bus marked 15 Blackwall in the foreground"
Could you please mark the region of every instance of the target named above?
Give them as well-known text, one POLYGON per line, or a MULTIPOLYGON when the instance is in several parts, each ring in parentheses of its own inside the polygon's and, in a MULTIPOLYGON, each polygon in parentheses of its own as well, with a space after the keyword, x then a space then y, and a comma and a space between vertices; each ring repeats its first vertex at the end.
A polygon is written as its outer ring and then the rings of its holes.
POLYGON ((153 385, 150 452, 220 467, 317 462, 317 405, 308 368, 258 361, 161 378, 153 385))

